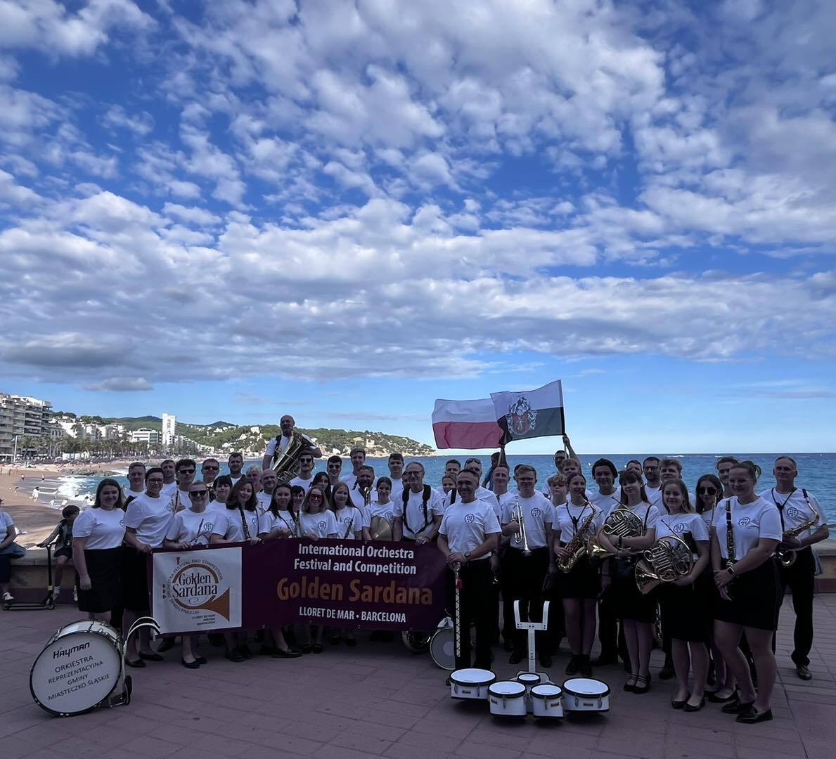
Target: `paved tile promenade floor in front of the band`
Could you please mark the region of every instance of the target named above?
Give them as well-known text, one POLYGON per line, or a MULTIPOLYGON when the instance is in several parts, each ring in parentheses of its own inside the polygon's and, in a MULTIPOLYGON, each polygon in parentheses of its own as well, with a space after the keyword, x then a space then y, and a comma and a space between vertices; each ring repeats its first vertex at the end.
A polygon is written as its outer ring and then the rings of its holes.
MULTIPOLYGON (((326 648, 298 660, 257 657, 241 664, 204 646, 209 663, 186 670, 171 651, 161 664, 130 670, 130 706, 58 719, 35 706, 28 673, 61 624, 79 618, 54 612, 0 612, 0 757, 314 756, 319 759, 390 756, 400 759, 830 759, 836 756, 836 594, 816 599, 816 642, 804 683, 789 660, 792 611, 785 605, 778 639, 775 720, 738 725, 707 705, 694 714, 673 711, 670 686, 654 681, 646 695, 620 690, 624 675, 604 667, 596 675, 613 688, 607 716, 543 723, 502 721, 486 702, 454 702, 446 673, 429 655, 400 645, 326 648)), ((497 649, 497 675, 512 675, 497 649)), ((555 657, 553 679, 563 681, 566 656, 555 657)), ((661 664, 654 652, 655 671, 661 664)))

